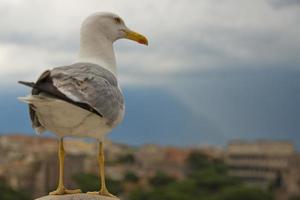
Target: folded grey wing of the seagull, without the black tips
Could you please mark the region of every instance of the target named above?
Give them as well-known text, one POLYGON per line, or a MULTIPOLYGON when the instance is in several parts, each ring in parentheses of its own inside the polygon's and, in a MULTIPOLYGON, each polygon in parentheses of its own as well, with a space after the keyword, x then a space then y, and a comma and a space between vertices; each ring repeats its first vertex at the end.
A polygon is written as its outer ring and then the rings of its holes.
POLYGON ((116 77, 108 70, 91 63, 76 63, 54 68, 53 85, 67 98, 89 105, 113 125, 124 109, 123 95, 116 77))

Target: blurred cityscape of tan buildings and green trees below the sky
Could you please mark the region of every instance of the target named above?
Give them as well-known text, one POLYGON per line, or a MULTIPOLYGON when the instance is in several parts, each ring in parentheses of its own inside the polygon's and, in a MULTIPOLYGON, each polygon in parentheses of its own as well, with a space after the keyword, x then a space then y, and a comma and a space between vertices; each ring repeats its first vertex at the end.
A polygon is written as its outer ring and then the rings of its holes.
MULTIPOLYGON (((54 190, 57 145, 53 138, 1 135, 0 199, 32 199, 54 190)), ((68 188, 98 189, 97 148, 90 141, 65 141, 68 188)), ((300 156, 289 141, 236 140, 225 148, 108 141, 105 153, 108 186, 124 200, 300 199, 300 156)))

